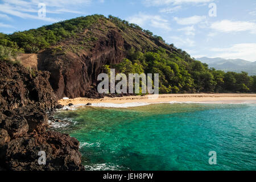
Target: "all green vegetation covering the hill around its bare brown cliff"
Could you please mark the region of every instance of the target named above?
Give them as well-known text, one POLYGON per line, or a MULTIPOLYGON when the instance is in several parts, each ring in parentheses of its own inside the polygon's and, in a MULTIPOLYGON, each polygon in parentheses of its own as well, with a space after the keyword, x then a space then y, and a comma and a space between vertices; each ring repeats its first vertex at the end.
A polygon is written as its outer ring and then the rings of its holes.
POLYGON ((160 36, 112 15, 109 18, 103 15, 79 17, 10 35, 0 33, 0 59, 16 60, 21 52, 37 53, 46 48, 51 48, 53 55, 63 55, 64 49, 57 43, 67 39, 78 43, 68 48, 77 52, 98 40, 94 37, 92 26, 104 34, 112 27, 111 24, 119 28, 125 41, 132 47, 126 50, 127 56, 122 63, 106 65, 106 69, 115 68, 117 72, 126 75, 159 73, 160 93, 256 92, 256 76, 250 77, 245 72, 225 73, 209 69, 207 64, 192 59, 187 52, 174 47, 174 44, 164 43, 160 36), (90 37, 80 40, 77 37, 85 29, 90 30, 90 37), (142 38, 138 34, 146 35, 142 38), (165 48, 154 47, 151 40, 162 42, 165 48), (134 42, 139 46, 133 47, 134 42))

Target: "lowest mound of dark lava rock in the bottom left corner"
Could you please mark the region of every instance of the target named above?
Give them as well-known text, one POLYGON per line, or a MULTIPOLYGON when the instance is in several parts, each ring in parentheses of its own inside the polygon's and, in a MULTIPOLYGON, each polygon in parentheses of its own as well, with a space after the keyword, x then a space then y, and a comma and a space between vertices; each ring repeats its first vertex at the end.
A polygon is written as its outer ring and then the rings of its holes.
POLYGON ((57 132, 32 133, 15 138, 1 147, 3 168, 10 170, 81 170, 79 142, 57 132), (39 151, 46 152, 46 164, 39 164, 39 151), (7 155, 6 155, 7 154, 7 155))

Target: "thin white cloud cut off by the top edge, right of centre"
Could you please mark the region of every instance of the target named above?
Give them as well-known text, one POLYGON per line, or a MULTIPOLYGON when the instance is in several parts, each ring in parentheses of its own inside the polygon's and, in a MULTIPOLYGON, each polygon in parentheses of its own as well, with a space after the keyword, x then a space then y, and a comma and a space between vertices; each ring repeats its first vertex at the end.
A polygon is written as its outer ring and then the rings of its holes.
POLYGON ((181 5, 183 3, 207 3, 214 0, 144 0, 146 6, 181 5))

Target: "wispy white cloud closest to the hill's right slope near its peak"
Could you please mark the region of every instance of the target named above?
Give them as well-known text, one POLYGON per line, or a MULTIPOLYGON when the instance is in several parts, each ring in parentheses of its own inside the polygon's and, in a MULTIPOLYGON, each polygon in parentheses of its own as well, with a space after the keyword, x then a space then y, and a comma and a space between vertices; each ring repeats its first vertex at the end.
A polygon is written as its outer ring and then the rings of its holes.
POLYGON ((171 27, 168 23, 168 20, 163 19, 159 15, 147 15, 143 13, 139 13, 137 15, 130 16, 127 19, 130 23, 138 24, 139 26, 144 26, 149 24, 152 27, 162 28, 163 30, 170 31, 171 27))

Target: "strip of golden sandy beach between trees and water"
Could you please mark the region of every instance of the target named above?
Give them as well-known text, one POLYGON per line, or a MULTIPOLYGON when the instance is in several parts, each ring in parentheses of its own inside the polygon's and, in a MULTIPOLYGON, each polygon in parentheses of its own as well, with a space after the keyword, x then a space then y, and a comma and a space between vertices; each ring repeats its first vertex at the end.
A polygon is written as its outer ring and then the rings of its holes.
POLYGON ((252 103, 256 104, 256 94, 159 94, 158 97, 155 95, 148 96, 127 96, 127 97, 105 97, 101 99, 92 98, 74 98, 68 100, 59 100, 59 104, 68 105, 72 103, 77 104, 87 104, 90 103, 113 103, 113 104, 123 104, 130 102, 216 102, 216 103, 252 103))

